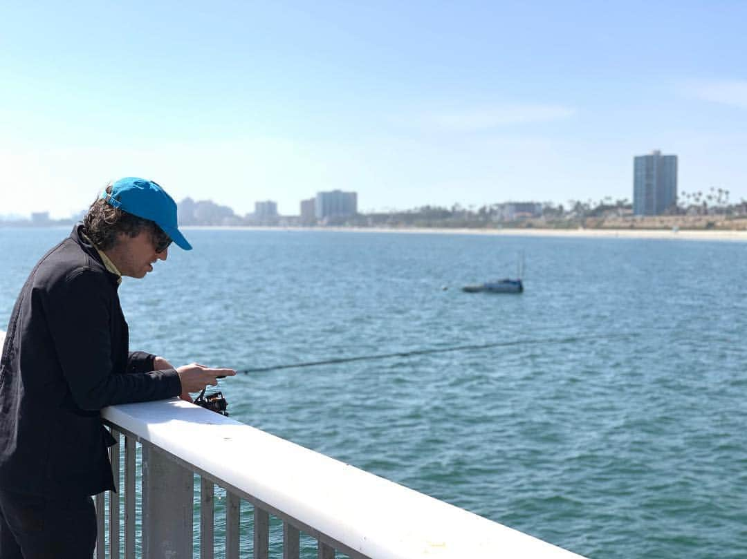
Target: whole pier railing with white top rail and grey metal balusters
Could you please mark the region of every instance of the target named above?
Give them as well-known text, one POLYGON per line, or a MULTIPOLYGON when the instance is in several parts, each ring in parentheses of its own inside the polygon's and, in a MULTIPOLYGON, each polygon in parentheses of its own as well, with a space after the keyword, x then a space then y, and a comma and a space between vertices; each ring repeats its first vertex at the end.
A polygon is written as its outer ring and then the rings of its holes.
MULTIPOLYGON (((0 346, 3 338, 0 331, 0 346)), ((179 399, 106 407, 102 418, 117 440, 110 449, 114 479, 124 484, 96 496, 96 559, 120 559, 120 550, 134 559, 136 519, 143 559, 192 558, 195 474, 200 559, 214 558, 216 486, 226 490, 226 559, 239 557, 242 503, 253 508, 255 559, 270 555, 272 516, 282 522, 283 559, 300 557, 302 533, 317 541, 318 559, 335 552, 351 559, 580 558, 179 399)))

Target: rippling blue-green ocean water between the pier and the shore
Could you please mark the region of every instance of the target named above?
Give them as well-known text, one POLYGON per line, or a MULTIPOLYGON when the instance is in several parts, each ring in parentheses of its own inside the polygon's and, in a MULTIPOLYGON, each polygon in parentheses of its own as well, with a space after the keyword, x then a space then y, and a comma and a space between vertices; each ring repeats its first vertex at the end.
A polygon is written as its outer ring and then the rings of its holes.
MULTIPOLYGON (((67 233, 0 228, 0 329, 67 233)), ((747 245, 187 238, 120 288, 132 349, 175 365, 506 343, 238 375, 220 387, 233 418, 592 558, 747 557, 747 245), (520 252, 521 296, 459 290, 520 252)))

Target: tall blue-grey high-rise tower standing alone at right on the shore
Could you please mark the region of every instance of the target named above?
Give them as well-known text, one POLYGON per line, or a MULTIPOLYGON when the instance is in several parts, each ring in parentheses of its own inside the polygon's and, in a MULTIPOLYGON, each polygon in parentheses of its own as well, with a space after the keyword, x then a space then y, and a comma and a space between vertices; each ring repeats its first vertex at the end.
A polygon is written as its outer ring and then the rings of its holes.
POLYGON ((633 213, 657 216, 677 204, 677 156, 650 155, 633 157, 633 213))

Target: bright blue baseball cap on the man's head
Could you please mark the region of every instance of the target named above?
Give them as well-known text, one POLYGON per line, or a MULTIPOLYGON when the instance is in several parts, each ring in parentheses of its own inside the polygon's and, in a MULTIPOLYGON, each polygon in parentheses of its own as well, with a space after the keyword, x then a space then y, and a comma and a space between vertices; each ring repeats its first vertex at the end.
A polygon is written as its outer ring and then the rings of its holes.
POLYGON ((161 185, 145 178, 125 177, 111 185, 111 195, 106 190, 101 197, 106 202, 133 216, 150 219, 181 249, 192 250, 184 235, 176 227, 176 202, 161 185))

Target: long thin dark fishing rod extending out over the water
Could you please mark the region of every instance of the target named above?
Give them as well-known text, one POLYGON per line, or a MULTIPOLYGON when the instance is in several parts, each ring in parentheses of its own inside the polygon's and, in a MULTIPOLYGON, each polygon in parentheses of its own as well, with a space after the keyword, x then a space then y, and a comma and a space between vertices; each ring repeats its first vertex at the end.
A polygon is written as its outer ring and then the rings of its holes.
POLYGON ((595 334, 589 336, 570 336, 561 338, 545 338, 544 340, 513 340, 510 342, 494 342, 494 343, 480 343, 470 344, 468 346, 451 346, 447 348, 433 348, 433 349, 415 349, 409 352, 396 352, 396 353, 384 353, 378 355, 359 355, 358 357, 334 357, 332 359, 324 359, 319 361, 308 361, 306 363, 291 363, 288 365, 273 365, 267 367, 258 367, 255 369, 237 369, 236 372, 247 374, 249 372, 267 372, 277 371, 280 369, 300 369, 302 367, 311 367, 319 365, 335 365, 338 363, 352 363, 353 361, 372 361, 377 359, 391 359, 391 357, 412 357, 413 355, 429 355, 433 353, 447 353, 447 352, 468 352, 468 351, 479 351, 481 349, 489 349, 496 347, 509 347, 509 346, 521 346, 521 345, 533 345, 537 346, 540 344, 551 344, 551 343, 573 343, 584 340, 615 340, 622 338, 636 337, 639 334, 636 332, 629 332, 624 334, 595 334))

